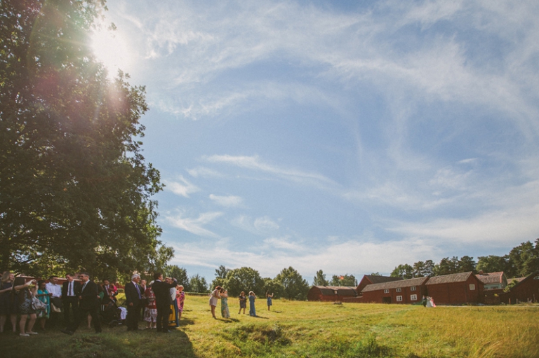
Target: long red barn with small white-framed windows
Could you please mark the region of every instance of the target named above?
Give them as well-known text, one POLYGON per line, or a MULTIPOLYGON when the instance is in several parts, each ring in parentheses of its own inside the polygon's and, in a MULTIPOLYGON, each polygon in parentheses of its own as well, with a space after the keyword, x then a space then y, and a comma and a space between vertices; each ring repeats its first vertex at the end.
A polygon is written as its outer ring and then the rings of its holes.
POLYGON ((429 277, 418 277, 410 280, 368 284, 362 291, 364 303, 418 303, 427 292, 425 282, 429 277))

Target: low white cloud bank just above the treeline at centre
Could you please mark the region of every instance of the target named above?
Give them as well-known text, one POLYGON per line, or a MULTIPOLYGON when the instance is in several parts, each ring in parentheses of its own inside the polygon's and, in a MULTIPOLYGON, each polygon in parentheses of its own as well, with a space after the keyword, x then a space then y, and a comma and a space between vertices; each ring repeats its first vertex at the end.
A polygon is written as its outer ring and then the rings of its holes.
POLYGON ((399 263, 425 259, 437 261, 440 256, 434 245, 422 240, 347 240, 337 244, 328 241, 324 245, 313 245, 311 242, 291 242, 290 238, 284 237, 265 240, 259 253, 237 251, 222 241, 211 247, 193 242, 172 246, 175 252, 181 253, 178 257, 181 265, 204 268, 215 268, 218 265, 227 268, 247 266, 258 270, 262 277, 275 277, 283 268, 292 266, 304 277, 312 277, 317 270, 324 270, 326 275, 350 273, 361 279, 361 275, 377 271, 388 275, 399 263))

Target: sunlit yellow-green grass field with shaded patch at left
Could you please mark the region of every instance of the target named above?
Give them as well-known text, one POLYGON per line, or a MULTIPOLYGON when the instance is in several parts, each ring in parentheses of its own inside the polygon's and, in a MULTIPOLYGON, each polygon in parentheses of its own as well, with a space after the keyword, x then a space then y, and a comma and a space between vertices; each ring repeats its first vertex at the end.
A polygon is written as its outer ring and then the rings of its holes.
MULTIPOLYGON (((539 305, 438 306, 274 300, 259 317, 213 319, 208 299, 187 296, 170 334, 81 328, 0 337, 0 357, 539 357, 539 305)), ((219 307, 218 307, 219 310, 219 307)), ((248 313, 248 310, 247 310, 248 313)), ((142 325, 144 325, 142 323, 142 325)))

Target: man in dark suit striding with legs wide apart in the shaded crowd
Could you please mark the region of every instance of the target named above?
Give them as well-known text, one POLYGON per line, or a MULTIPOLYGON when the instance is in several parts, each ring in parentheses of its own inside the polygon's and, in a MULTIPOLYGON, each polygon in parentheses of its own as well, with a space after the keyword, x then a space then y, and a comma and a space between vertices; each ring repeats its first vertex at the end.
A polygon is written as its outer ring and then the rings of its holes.
POLYGON ((79 325, 86 320, 88 314, 92 316, 93 326, 95 333, 101 333, 101 322, 99 317, 99 299, 98 285, 90 280, 88 273, 80 273, 79 280, 81 280, 81 294, 79 296, 79 315, 76 317, 74 324, 71 324, 67 329, 62 329, 62 333, 73 334, 79 325))

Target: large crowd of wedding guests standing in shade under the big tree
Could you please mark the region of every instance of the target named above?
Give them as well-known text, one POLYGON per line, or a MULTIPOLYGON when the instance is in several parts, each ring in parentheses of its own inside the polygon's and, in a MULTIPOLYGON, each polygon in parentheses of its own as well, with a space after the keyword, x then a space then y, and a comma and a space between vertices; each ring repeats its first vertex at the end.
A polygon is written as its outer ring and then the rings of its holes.
MULTIPOLYGON (((67 274, 66 281, 60 285, 57 276, 49 277, 48 282, 27 281, 25 277, 4 272, 0 280, 0 333, 4 332, 9 318, 13 333, 18 328, 20 336, 35 335, 36 322, 44 331, 46 322, 58 325, 58 322, 51 321, 53 317, 59 319, 62 312, 63 333, 72 335, 83 322, 88 323, 88 328, 93 324, 95 333, 100 333, 100 310, 109 303, 116 304, 118 288, 107 279, 97 284, 90 280, 88 273, 79 273, 79 280, 75 277, 67 274)), ((164 280, 161 273, 156 273, 154 281, 147 285, 140 275, 134 274, 124 290, 127 309, 118 309, 127 313, 128 331, 138 330, 142 309, 147 329, 168 332, 169 327, 179 326, 185 292, 176 280, 164 280)))

